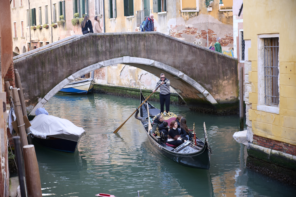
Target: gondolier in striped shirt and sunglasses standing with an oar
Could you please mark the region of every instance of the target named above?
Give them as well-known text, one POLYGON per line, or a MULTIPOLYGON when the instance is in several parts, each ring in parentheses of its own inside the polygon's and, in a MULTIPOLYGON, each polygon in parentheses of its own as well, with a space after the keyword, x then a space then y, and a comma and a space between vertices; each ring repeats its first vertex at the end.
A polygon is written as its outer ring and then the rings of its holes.
MULTIPOLYGON (((159 100, 160 100, 160 113, 164 112, 164 105, 165 110, 167 112, 170 111, 170 80, 165 78, 165 74, 160 74, 160 80, 157 81, 157 84, 155 86, 155 89, 160 85, 160 94, 159 94, 159 100)), ((152 90, 154 93, 155 90, 152 90)))

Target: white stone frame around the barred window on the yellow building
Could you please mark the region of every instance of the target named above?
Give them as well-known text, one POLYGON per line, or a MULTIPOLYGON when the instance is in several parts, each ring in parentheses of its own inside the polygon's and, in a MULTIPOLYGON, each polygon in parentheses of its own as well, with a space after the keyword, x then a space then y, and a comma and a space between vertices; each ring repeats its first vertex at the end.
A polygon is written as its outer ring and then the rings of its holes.
MULTIPOLYGON (((257 38, 257 44, 258 44, 258 57, 257 57, 257 62, 258 62, 258 64, 257 64, 257 69, 258 69, 258 105, 257 105, 257 110, 279 114, 279 105, 278 106, 265 105, 265 77, 264 77, 264 39, 265 38, 279 38, 279 33, 259 34, 258 38, 257 38)), ((279 59, 279 63, 280 63, 280 59, 279 59)), ((278 65, 278 68, 279 68, 279 65, 278 65)), ((278 86, 279 86, 279 77, 278 77, 278 86)), ((279 88, 280 88, 280 86, 279 86, 279 88)))

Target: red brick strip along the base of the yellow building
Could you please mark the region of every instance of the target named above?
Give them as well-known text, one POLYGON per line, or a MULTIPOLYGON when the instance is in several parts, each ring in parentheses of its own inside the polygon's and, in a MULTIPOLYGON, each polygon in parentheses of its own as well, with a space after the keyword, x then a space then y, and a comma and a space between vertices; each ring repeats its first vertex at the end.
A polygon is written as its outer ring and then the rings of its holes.
POLYGON ((254 135, 253 144, 296 156, 296 146, 285 142, 271 140, 266 137, 254 135))

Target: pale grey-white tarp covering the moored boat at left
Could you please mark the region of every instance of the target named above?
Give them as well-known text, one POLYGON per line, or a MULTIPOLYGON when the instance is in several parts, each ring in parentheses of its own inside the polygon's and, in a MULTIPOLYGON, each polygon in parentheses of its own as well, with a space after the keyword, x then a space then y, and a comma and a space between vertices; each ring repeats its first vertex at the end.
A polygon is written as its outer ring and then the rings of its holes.
POLYGON ((30 123, 31 134, 42 139, 48 136, 78 142, 85 134, 83 128, 71 121, 51 115, 39 114, 30 123))

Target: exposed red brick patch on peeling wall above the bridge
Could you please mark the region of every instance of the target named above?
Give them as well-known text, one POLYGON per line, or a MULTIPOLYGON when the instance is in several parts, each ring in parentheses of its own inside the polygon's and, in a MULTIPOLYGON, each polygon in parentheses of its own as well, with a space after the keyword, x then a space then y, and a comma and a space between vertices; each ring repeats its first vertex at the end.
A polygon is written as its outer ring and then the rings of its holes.
MULTIPOLYGON (((198 28, 194 28, 194 27, 185 27, 182 28, 182 30, 177 30, 177 28, 179 26, 183 26, 183 25, 170 25, 170 32, 169 35, 173 36, 175 38, 182 38, 182 34, 187 34, 187 35, 194 35, 195 38, 197 39, 207 39, 207 31, 206 30, 198 30, 198 28)), ((209 44, 211 42, 216 42, 217 40, 217 34, 211 30, 208 29, 208 35, 209 35, 209 44)), ((221 37, 222 41, 221 41, 221 46, 222 47, 227 47, 228 44, 233 44, 233 34, 228 34, 226 33, 223 37, 221 37)), ((206 44, 204 47, 207 47, 206 44)))

